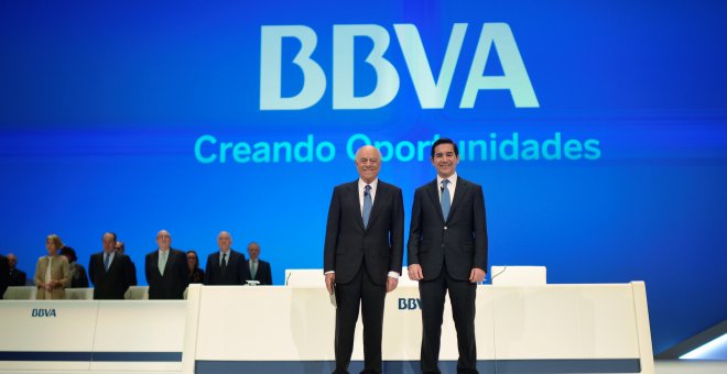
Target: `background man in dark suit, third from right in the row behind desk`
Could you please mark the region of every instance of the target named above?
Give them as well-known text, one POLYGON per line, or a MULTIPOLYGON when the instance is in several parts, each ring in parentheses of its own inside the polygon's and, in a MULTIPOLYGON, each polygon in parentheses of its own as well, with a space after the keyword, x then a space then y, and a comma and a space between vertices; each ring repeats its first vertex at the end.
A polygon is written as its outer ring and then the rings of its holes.
MULTIPOLYGON (((149 299, 183 299, 189 282, 187 255, 172 249, 172 235, 156 233, 156 251, 147 254, 144 271, 149 283, 149 299)), ((117 251, 118 253, 118 251, 117 251)))

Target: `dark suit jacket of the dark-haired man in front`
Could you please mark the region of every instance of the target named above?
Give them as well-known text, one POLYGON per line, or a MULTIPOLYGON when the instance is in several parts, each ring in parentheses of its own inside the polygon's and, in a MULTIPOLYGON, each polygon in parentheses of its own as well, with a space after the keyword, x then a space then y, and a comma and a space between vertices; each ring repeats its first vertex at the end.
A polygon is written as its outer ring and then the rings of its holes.
POLYGON ((420 264, 425 279, 436 278, 443 263, 449 276, 458 280, 467 280, 473 267, 487 271, 482 187, 457 176, 446 222, 436 179, 417 188, 408 248, 409 264, 420 264))

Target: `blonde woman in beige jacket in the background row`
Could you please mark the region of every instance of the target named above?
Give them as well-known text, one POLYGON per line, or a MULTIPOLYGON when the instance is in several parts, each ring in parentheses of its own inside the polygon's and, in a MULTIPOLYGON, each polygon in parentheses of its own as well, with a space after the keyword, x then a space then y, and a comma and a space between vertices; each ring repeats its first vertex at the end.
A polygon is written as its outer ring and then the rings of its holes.
POLYGON ((48 255, 37 258, 35 264, 37 299, 65 298, 65 288, 70 284, 70 266, 68 266, 68 258, 58 255, 62 248, 63 242, 58 235, 51 234, 45 239, 48 255))

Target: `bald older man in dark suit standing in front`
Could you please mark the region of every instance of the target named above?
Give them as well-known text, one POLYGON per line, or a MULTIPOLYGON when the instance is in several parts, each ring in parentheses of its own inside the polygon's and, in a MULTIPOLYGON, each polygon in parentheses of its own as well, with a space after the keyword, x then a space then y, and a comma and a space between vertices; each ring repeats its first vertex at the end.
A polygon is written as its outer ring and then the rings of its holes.
POLYGON ((379 180, 381 153, 356 153, 359 178, 336 186, 328 208, 324 273, 336 297, 336 371, 348 373, 359 305, 364 318, 364 373, 381 373, 383 305, 397 288, 404 242, 401 189, 379 180))

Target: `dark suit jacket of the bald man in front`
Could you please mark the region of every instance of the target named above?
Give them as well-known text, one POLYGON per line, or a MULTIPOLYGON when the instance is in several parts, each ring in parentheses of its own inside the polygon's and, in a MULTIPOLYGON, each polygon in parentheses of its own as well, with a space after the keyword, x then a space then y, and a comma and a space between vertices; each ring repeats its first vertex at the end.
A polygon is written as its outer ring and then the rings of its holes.
POLYGON ((364 229, 358 179, 336 186, 328 208, 324 272, 336 272, 336 283, 346 284, 366 262, 371 280, 379 285, 386 284, 389 272, 401 273, 403 206, 401 189, 379 179, 369 224, 364 229))

